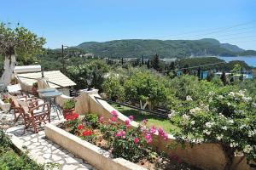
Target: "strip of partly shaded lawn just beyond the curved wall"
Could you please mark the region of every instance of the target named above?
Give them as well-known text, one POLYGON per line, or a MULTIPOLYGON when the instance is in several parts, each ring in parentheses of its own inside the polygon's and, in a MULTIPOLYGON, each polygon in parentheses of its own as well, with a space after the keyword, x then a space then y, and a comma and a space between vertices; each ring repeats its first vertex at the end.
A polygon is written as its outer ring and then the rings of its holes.
POLYGON ((126 106, 121 105, 112 105, 116 110, 124 114, 125 116, 134 116, 134 121, 136 122, 143 122, 144 119, 148 120, 147 126, 155 126, 155 127, 163 127, 166 133, 174 133, 177 132, 179 129, 175 125, 173 125, 168 118, 163 118, 160 116, 154 116, 148 113, 139 113, 139 111, 135 109, 131 109, 126 106))

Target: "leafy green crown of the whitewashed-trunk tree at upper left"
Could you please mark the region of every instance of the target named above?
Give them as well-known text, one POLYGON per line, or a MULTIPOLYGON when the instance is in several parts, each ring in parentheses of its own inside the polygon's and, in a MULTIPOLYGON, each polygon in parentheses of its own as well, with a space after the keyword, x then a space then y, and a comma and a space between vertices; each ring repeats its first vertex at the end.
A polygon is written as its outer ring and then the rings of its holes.
POLYGON ((0 23, 0 54, 10 57, 19 56, 18 60, 28 65, 35 56, 42 53, 45 39, 38 37, 25 27, 11 28, 0 23))

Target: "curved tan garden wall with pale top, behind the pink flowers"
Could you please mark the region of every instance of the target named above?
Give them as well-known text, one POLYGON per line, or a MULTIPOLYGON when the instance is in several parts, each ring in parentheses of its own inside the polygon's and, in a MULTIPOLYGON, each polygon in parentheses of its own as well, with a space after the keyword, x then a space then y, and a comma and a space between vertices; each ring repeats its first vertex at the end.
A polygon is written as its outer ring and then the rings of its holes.
MULTIPOLYGON (((76 102, 76 111, 79 114, 96 113, 104 118, 108 119, 111 117, 111 111, 115 110, 108 102, 101 99, 96 99, 99 97, 98 90, 93 89, 91 91, 81 91, 76 102)), ((119 114, 119 121, 125 122, 128 119, 122 113, 117 111, 119 114)), ((131 122, 134 127, 138 126, 137 122, 131 122)), ((227 162, 224 151, 219 144, 195 144, 194 147, 190 147, 189 144, 185 144, 185 148, 181 144, 177 143, 177 140, 171 135, 168 135, 167 140, 159 137, 157 133, 154 135, 153 146, 155 149, 160 151, 165 151, 168 155, 177 155, 183 161, 193 165, 195 167, 200 167, 205 170, 224 170, 225 164, 227 162), (167 146, 172 144, 177 144, 175 149, 168 149, 167 146)), ((239 162, 237 159, 234 162, 239 162)), ((232 167, 232 170, 249 170, 247 162, 245 160, 240 161, 236 166, 232 167)))

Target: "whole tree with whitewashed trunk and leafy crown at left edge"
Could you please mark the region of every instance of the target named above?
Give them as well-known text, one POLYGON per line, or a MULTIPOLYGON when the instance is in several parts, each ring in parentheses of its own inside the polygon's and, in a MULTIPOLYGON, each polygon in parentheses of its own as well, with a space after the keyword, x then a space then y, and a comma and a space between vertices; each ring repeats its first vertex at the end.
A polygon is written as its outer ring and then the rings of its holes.
POLYGON ((9 84, 15 69, 16 56, 23 64, 31 64, 37 54, 43 52, 44 37, 28 31, 25 27, 11 28, 0 23, 0 55, 5 57, 1 82, 9 84))

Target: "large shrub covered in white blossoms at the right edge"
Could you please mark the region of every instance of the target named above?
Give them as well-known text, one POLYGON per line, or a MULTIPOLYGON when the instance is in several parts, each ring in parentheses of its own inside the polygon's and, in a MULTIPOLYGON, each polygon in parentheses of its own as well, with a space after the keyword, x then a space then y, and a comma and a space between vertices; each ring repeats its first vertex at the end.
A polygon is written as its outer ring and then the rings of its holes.
POLYGON ((221 144, 230 162, 234 156, 256 160, 256 103, 246 91, 220 88, 189 111, 173 112, 171 121, 181 128, 177 139, 221 144))

